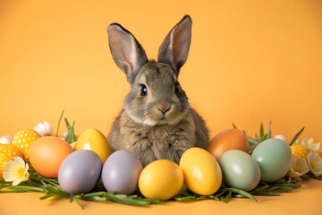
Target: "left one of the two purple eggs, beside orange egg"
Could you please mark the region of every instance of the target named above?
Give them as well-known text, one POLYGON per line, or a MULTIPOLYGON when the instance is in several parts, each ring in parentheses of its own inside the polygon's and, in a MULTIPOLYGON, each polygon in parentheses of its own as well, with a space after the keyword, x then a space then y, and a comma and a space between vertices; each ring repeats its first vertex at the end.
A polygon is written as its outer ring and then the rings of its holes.
POLYGON ((96 152, 75 150, 60 166, 58 182, 67 193, 89 193, 97 185, 101 170, 102 162, 96 152))

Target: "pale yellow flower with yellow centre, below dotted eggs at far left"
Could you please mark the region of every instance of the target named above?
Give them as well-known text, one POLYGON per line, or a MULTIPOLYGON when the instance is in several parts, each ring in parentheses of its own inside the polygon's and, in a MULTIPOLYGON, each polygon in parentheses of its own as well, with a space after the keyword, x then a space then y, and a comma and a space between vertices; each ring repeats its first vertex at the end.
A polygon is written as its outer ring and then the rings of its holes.
POLYGON ((22 181, 28 180, 30 176, 28 169, 28 163, 21 157, 14 157, 4 165, 4 181, 13 182, 13 186, 19 185, 22 181))

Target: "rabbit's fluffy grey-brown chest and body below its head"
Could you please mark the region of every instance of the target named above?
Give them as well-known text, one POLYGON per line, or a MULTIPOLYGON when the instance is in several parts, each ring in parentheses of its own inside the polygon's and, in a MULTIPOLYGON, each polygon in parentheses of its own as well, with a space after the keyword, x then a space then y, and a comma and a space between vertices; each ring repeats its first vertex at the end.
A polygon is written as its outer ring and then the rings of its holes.
POLYGON ((194 110, 176 125, 141 125, 131 120, 123 110, 108 135, 113 150, 132 151, 143 166, 156 159, 171 159, 179 163, 182 153, 191 147, 206 148, 208 131, 194 110), (196 122, 198 126, 196 127, 196 122))

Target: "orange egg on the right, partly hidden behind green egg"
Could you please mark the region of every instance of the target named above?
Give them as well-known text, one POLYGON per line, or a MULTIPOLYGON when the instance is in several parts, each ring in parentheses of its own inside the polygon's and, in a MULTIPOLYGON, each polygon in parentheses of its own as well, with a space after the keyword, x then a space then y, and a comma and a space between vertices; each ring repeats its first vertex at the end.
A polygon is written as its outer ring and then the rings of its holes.
POLYGON ((228 129, 216 136, 209 142, 208 151, 218 160, 226 150, 247 151, 248 140, 245 133, 238 129, 228 129))

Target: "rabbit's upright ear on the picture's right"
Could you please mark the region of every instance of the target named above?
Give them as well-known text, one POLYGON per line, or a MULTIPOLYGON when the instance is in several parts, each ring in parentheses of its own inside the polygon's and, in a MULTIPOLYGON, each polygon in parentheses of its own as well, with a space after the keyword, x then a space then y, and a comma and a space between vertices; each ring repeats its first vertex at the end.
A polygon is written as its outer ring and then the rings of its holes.
POLYGON ((166 35, 159 48, 158 62, 170 64, 177 75, 186 62, 191 44, 191 17, 185 15, 166 35))

